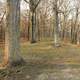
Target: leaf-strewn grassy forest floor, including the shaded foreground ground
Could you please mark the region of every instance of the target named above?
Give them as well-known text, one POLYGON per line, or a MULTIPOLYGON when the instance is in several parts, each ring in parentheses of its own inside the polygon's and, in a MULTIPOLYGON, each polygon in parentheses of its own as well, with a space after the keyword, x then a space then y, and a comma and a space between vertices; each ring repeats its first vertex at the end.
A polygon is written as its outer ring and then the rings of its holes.
POLYGON ((23 66, 0 70, 0 80, 80 80, 80 47, 53 42, 21 44, 23 66))

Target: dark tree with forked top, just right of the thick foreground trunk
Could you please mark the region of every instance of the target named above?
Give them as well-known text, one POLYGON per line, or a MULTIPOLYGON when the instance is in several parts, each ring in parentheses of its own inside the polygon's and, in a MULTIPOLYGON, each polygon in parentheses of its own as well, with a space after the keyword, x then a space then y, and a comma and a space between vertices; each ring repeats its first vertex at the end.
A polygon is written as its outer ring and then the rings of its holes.
POLYGON ((32 38, 31 38, 31 43, 35 43, 36 42, 36 8, 38 6, 38 4, 40 3, 41 0, 29 0, 29 2, 27 0, 24 0, 25 2, 27 2, 29 4, 30 7, 30 12, 32 14, 32 38))

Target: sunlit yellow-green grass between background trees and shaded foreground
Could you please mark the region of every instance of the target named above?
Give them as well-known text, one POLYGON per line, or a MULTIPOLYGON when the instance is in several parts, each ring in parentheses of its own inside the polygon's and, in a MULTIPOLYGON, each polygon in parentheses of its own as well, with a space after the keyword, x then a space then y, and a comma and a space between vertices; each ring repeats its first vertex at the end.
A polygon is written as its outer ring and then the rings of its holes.
POLYGON ((24 43, 21 47, 22 55, 31 61, 46 61, 50 63, 80 64, 80 47, 62 43, 55 48, 53 42, 24 43))

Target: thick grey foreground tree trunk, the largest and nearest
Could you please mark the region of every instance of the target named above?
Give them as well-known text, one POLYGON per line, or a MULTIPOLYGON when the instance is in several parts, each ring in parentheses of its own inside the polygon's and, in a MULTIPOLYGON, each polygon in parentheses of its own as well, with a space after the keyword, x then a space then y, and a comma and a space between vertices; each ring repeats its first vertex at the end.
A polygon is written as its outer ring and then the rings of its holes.
POLYGON ((23 62, 20 56, 20 0, 7 0, 8 15, 6 27, 6 53, 9 55, 11 65, 23 62))

